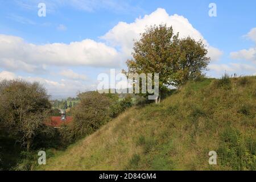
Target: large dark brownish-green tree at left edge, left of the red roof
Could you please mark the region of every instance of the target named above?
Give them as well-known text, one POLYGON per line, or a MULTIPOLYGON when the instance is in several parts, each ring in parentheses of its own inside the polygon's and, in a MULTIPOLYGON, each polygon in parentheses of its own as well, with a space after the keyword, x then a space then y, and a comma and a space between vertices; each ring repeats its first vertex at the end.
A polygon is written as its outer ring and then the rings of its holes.
POLYGON ((34 137, 47 133, 44 125, 51 109, 46 89, 38 82, 0 82, 0 122, 30 150, 34 137))

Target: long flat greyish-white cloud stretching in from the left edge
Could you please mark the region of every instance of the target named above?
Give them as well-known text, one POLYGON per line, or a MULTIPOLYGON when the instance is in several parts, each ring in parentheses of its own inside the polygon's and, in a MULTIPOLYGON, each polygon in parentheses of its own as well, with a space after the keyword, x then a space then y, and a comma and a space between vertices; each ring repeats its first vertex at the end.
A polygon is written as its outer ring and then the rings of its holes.
POLYGON ((0 65, 7 69, 33 72, 45 65, 117 67, 119 62, 117 50, 90 39, 36 45, 16 36, 0 35, 0 65))

